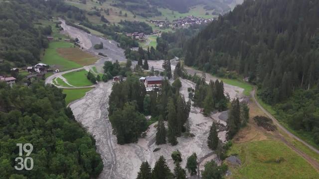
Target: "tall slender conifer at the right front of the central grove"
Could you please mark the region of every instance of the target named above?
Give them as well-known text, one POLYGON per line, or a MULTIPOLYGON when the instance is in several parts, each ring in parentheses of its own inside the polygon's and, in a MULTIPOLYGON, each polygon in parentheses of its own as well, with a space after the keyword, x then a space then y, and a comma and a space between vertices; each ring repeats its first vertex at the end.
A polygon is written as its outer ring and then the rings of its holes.
POLYGON ((171 145, 176 145, 177 140, 176 140, 176 126, 177 126, 177 121, 176 121, 176 110, 175 110, 175 105, 173 102, 173 99, 170 97, 168 99, 167 103, 167 121, 168 121, 168 132, 167 132, 167 137, 168 137, 168 142, 171 145))

